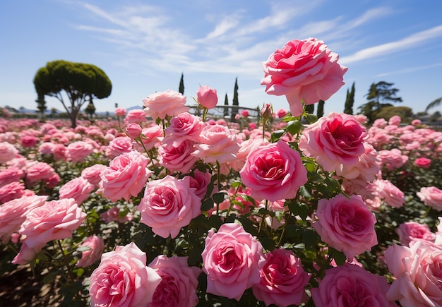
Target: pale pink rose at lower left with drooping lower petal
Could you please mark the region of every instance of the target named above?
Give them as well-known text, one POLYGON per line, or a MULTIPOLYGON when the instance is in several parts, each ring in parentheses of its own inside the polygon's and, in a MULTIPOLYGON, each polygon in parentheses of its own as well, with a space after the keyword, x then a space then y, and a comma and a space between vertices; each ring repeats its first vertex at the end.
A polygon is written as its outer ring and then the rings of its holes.
POLYGON ((85 217, 73 198, 52 200, 31 210, 18 231, 25 239, 12 263, 29 263, 47 242, 70 238, 85 217))

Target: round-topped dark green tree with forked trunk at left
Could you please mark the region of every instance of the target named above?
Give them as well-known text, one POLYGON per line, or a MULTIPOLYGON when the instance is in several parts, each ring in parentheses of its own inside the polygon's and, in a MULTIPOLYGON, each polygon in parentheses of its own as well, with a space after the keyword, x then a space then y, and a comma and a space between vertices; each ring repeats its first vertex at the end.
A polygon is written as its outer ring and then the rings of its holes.
POLYGON ((102 99, 112 92, 112 83, 101 68, 64 60, 50 61, 40 68, 35 74, 34 85, 38 97, 56 97, 63 104, 73 128, 80 108, 89 101, 88 97, 102 99), (65 104, 62 92, 66 93, 69 106, 65 104))

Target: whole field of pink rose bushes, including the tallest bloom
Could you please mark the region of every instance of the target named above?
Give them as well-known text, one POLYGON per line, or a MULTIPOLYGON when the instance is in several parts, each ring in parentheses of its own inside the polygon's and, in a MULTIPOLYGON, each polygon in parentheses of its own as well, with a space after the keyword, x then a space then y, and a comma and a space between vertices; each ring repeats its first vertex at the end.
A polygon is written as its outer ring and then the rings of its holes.
POLYGON ((259 123, 210 116, 207 85, 202 116, 163 89, 76 128, 0 119, 1 301, 442 306, 442 132, 306 112, 344 84, 338 59, 277 49, 261 85, 287 110, 259 123))

